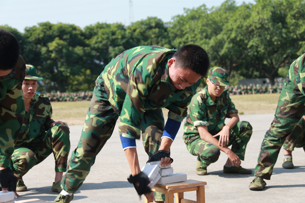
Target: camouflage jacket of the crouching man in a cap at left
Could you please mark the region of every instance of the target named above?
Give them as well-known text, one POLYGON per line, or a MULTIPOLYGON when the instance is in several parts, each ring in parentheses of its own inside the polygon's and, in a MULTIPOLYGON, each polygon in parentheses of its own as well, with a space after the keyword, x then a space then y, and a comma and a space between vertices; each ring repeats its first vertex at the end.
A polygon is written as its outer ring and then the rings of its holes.
POLYGON ((16 146, 35 150, 40 146, 42 136, 50 129, 53 121, 52 106, 45 95, 35 94, 31 100, 30 113, 26 112, 16 146))

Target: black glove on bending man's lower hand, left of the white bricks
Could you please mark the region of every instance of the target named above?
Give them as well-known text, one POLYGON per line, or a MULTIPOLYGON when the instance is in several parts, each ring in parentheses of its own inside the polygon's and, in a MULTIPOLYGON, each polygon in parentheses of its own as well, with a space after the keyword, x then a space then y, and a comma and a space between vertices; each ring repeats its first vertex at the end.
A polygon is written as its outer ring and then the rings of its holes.
POLYGON ((129 183, 134 184, 134 187, 137 190, 138 195, 141 196, 142 194, 151 192, 151 188, 147 186, 151 181, 143 172, 140 172, 135 176, 130 175, 129 178, 127 178, 127 180, 129 183), (139 183, 139 186, 137 186, 136 183, 139 183))

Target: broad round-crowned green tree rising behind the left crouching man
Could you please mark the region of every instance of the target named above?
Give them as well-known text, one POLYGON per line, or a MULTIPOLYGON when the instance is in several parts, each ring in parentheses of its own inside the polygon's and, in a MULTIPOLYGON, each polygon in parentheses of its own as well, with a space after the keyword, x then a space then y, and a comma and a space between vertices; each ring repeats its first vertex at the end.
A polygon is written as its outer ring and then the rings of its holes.
POLYGON ((44 77, 46 91, 64 92, 73 83, 69 80, 71 75, 96 66, 83 31, 75 25, 39 23, 38 27, 26 28, 25 37, 38 53, 31 64, 44 77))

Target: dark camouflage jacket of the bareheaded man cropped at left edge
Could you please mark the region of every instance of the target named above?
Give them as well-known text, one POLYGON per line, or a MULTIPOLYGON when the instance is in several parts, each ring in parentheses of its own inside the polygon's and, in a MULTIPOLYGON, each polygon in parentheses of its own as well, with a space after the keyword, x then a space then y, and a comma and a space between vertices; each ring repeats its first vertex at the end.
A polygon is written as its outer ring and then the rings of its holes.
POLYGON ((14 144, 20 132, 25 114, 22 98, 22 81, 25 63, 20 56, 15 75, 0 79, 0 167, 8 167, 14 152, 14 144))

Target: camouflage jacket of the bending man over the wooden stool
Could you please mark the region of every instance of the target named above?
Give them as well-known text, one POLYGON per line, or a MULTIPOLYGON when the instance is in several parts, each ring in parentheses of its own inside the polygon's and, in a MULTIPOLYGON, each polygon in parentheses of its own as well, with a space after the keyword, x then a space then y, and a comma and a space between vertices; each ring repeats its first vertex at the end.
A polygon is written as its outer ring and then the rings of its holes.
POLYGON ((120 115, 123 137, 140 138, 144 111, 167 108, 168 118, 182 122, 201 79, 184 90, 175 90, 168 75, 168 59, 176 50, 139 46, 112 59, 97 79, 107 91, 110 105, 120 115))

